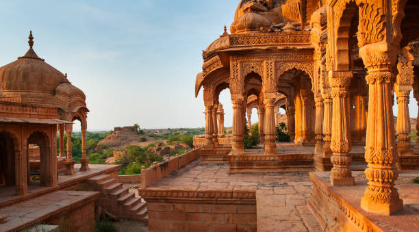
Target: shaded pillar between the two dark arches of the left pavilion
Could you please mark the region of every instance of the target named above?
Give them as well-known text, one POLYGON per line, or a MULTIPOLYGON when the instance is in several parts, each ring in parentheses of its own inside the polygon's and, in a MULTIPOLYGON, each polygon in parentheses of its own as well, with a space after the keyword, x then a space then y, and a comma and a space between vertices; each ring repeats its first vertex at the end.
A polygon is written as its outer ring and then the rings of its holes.
POLYGON ((14 149, 15 193, 17 196, 24 196, 27 194, 27 141, 20 142, 20 149, 17 146, 14 149))

